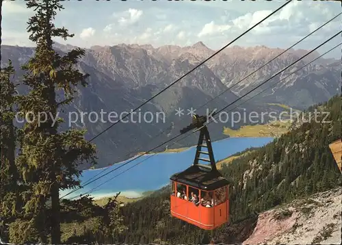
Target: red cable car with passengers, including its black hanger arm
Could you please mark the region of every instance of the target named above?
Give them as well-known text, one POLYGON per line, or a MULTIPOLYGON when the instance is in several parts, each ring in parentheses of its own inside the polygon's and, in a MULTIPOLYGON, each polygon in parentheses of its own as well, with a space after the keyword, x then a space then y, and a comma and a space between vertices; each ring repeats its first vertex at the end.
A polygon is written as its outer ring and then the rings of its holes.
POLYGON ((228 222, 229 182, 216 169, 209 131, 204 125, 205 116, 195 116, 192 125, 181 130, 185 133, 191 129, 200 130, 194 164, 170 177, 171 181, 171 214, 175 218, 205 230, 213 230, 228 222), (203 141, 207 144, 203 144, 203 141), (208 151, 201 151, 202 147, 208 151), (209 155, 209 159, 200 158, 200 154, 209 155), (210 162, 209 165, 198 164, 198 161, 210 162))

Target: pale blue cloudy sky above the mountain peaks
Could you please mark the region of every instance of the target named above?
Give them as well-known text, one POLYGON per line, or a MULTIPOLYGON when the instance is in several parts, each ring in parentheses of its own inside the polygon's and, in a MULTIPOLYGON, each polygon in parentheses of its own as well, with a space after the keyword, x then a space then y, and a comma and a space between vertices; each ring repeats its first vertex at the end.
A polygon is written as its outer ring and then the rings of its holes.
MULTIPOLYGON (((66 27, 75 36, 56 41, 83 48, 120 43, 184 47, 201 41, 216 50, 284 3, 285 0, 62 1, 65 9, 57 12, 55 25, 66 27)), ((293 0, 232 46, 265 45, 286 49, 341 11, 339 2, 293 0)), ((26 31, 33 10, 27 9, 24 1, 5 0, 1 12, 2 44, 34 47, 26 31)), ((336 34, 342 27, 341 16, 296 45, 295 49, 314 49, 336 34)), ((319 49, 319 53, 339 42, 342 42, 341 36, 319 49)), ((335 49, 328 57, 341 58, 341 48, 335 49)))

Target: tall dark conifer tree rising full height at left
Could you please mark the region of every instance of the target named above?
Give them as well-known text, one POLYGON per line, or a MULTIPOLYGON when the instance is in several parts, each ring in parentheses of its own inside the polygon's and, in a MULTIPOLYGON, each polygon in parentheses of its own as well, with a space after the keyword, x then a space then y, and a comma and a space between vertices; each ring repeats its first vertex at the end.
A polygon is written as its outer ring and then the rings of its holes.
POLYGON ((73 101, 75 86, 86 86, 88 75, 75 68, 83 49, 74 49, 64 56, 53 49, 53 38, 73 37, 64 27, 53 24, 56 11, 63 9, 60 1, 31 0, 27 8, 35 12, 27 22, 27 31, 29 40, 36 42, 36 52, 23 66, 26 71, 23 83, 30 91, 19 96, 19 108, 23 114, 30 114, 23 127, 17 165, 30 190, 23 193, 27 225, 17 228, 25 229, 23 239, 36 237, 38 242, 47 243, 51 235, 51 243, 59 244, 60 190, 79 186, 77 167, 83 161, 94 161, 96 151, 84 139, 85 131, 59 132, 63 120, 57 112, 73 101), (57 90, 63 100, 57 98, 57 90), (38 115, 42 115, 40 120, 38 115))

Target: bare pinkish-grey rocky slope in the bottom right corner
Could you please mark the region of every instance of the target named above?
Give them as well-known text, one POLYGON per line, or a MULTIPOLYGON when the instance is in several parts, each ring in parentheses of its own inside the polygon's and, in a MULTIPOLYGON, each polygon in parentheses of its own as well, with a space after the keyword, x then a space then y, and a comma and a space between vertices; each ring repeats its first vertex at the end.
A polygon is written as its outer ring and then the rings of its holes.
POLYGON ((243 244, 341 244, 342 188, 259 214, 243 244))

